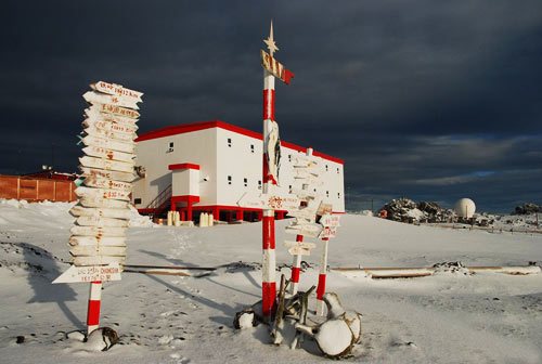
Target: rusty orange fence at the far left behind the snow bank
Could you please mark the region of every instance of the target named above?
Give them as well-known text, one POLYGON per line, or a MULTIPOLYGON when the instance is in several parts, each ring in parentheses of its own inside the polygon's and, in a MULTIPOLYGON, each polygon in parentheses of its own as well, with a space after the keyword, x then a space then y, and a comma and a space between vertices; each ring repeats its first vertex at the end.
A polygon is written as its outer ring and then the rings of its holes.
POLYGON ((0 176, 0 198, 28 202, 73 202, 77 199, 73 181, 0 176))

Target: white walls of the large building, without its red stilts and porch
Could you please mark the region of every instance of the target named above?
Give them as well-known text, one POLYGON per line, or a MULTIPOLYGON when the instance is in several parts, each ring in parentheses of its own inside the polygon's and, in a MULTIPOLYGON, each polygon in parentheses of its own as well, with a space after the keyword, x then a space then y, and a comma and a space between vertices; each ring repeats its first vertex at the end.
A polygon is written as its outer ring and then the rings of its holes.
MULTIPOLYGON (((138 209, 146 208, 171 184, 172 171, 168 166, 175 164, 199 165, 201 199, 194 204, 195 209, 197 206, 237 207, 243 194, 261 191, 261 134, 222 121, 217 121, 219 127, 209 127, 209 122, 205 125, 207 129, 184 132, 191 127, 189 125, 178 134, 162 136, 158 131, 151 139, 143 135, 143 140, 138 141, 137 165, 146 169, 146 177, 134 182, 133 198, 141 198, 141 204, 136 205, 138 209), (172 151, 169 143, 173 143, 172 151)), ((194 129, 198 128, 194 126, 194 129)), ((166 128, 165 133, 172 132, 166 128)), ((294 184, 294 156, 305 155, 305 152, 295 144, 282 143, 279 183, 283 193, 288 193, 294 184)), ((318 150, 313 155, 319 156, 318 150)), ((322 194, 324 202, 333 205, 335 212, 345 211, 344 166, 339 161, 333 157, 321 158, 324 184, 317 186, 317 192, 322 194)), ((194 179, 191 181, 196 183, 194 179)), ((188 187, 177 190, 189 191, 188 187)))

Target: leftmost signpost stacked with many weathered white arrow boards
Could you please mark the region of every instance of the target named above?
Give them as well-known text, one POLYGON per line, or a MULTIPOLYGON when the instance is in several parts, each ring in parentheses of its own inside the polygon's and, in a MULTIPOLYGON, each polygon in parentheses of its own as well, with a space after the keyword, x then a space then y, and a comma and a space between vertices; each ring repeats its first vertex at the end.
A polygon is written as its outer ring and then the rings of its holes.
POLYGON ((70 209, 69 253, 73 265, 53 283, 90 283, 87 333, 100 324, 102 282, 119 281, 126 261, 128 203, 134 173, 134 139, 141 92, 99 81, 83 94, 90 104, 82 122, 85 156, 79 158, 85 178, 75 190, 78 205, 70 209))

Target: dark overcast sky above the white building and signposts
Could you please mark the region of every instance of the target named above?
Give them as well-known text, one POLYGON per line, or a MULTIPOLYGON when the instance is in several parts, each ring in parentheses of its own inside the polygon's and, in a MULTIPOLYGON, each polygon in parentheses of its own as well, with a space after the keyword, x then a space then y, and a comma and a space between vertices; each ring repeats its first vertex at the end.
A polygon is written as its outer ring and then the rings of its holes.
POLYGON ((0 173, 76 171, 98 80, 145 93, 140 131, 260 131, 273 18, 281 138, 345 159, 347 209, 408 196, 542 204, 542 1, 2 1, 0 173), (54 152, 53 152, 54 151, 54 152))

